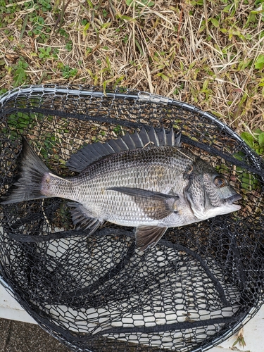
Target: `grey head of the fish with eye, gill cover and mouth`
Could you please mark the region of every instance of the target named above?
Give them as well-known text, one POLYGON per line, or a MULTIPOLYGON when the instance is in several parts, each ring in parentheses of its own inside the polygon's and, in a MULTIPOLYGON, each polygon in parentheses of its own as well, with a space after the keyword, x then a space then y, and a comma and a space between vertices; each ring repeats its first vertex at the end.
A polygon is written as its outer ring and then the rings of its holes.
POLYGON ((196 218, 206 220, 241 208, 234 202, 242 197, 230 186, 225 176, 220 175, 210 165, 197 169, 190 175, 189 184, 184 191, 196 218))

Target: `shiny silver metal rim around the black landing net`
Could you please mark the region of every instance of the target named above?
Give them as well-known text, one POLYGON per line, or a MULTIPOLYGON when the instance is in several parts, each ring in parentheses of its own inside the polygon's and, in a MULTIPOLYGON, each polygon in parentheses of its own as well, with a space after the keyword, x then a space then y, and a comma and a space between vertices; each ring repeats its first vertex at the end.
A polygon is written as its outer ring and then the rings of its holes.
MULTIPOLYGON (((71 95, 71 96, 91 96, 95 98, 103 98, 107 97, 109 99, 132 99, 135 100, 139 103, 141 102, 146 102, 146 103, 157 103, 157 104, 163 104, 163 105, 172 105, 172 106, 177 106, 178 108, 182 108, 185 111, 189 111, 190 113, 194 113, 195 115, 199 115, 201 118, 206 118, 207 120, 210 120, 210 122, 213 122, 220 130, 225 130, 230 136, 232 136, 234 139, 237 140, 246 150, 251 153, 251 157, 254 162, 256 162, 256 165, 258 168, 261 167, 258 164, 258 158, 255 158, 255 156, 252 153, 252 149, 247 146, 247 144, 239 137, 237 133, 235 133, 230 127, 228 127, 224 122, 221 122, 218 120, 218 118, 215 117, 212 113, 208 113, 206 111, 202 111, 200 108, 197 108, 196 106, 193 106, 189 103, 184 103, 182 101, 177 101, 176 99, 170 99, 165 96, 160 96, 156 94, 151 94, 149 92, 142 92, 142 91, 136 91, 136 90, 130 90, 130 89, 122 89, 125 90, 125 92, 119 92, 118 89, 115 89, 113 92, 103 92, 103 87, 96 87, 96 89, 101 89, 102 91, 96 91, 93 89, 88 89, 90 87, 85 87, 85 86, 73 86, 73 85, 57 85, 57 84, 40 84, 40 85, 29 85, 29 86, 22 86, 18 87, 15 89, 11 89, 10 91, 6 92, 4 95, 0 96, 0 104, 1 108, 4 108, 6 102, 8 101, 14 101, 16 98, 19 96, 30 96, 32 94, 38 95, 38 96, 45 96, 49 94, 65 94, 65 95, 71 95), (77 87, 79 87, 77 89, 77 87), (131 92, 131 94, 130 94, 131 92)), ((15 292, 11 287, 6 284, 5 280, 1 277, 0 275, 0 283, 7 289, 9 293, 11 293, 11 296, 15 298, 18 303, 21 303, 21 298, 16 298, 15 292)), ((208 349, 212 348, 213 346, 217 346, 220 344, 222 341, 225 341, 229 337, 232 336, 235 332, 237 332, 246 322, 251 320, 254 315, 258 312, 260 309, 262 303, 259 302, 258 306, 253 306, 248 312, 245 313, 243 318, 240 318, 234 326, 230 327, 230 329, 222 334, 220 337, 217 337, 213 339, 208 344, 204 344, 203 346, 199 348, 194 348, 191 349, 191 352, 199 352, 199 351, 208 351, 208 349)), ((31 315, 31 314, 30 314, 31 315)), ((33 318, 33 317, 32 317, 33 318)), ((37 321, 36 318, 34 320, 37 321)), ((39 325, 42 326, 40 320, 39 320, 39 325)), ((48 329, 46 329, 47 332, 49 332, 48 329)), ((50 332, 49 332, 50 333, 50 332)), ((89 351, 88 349, 85 349, 85 351, 89 351)))

